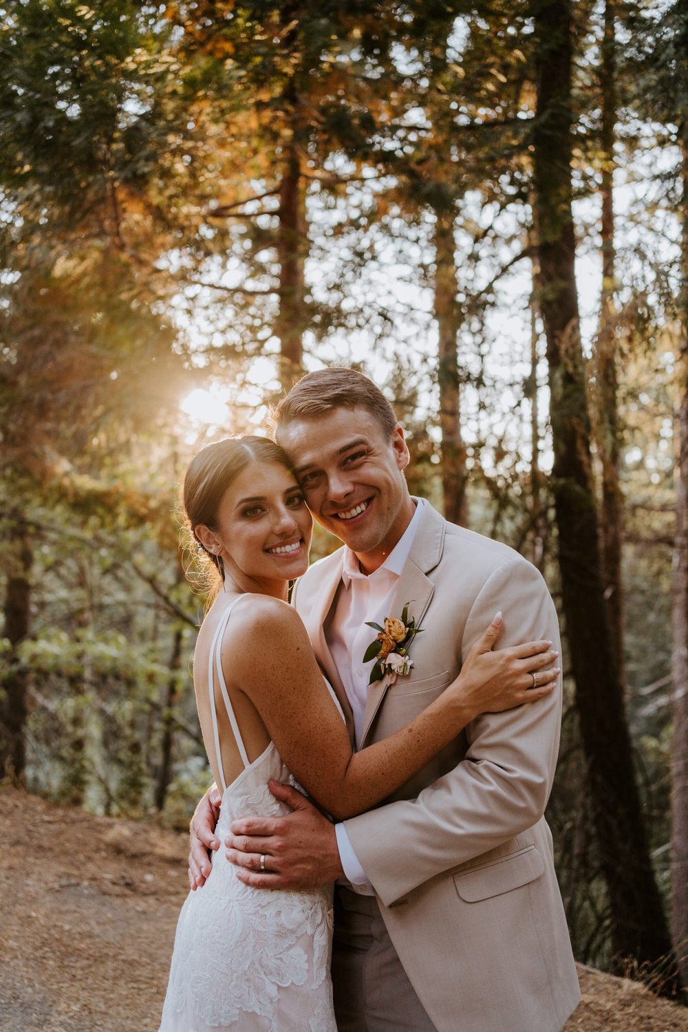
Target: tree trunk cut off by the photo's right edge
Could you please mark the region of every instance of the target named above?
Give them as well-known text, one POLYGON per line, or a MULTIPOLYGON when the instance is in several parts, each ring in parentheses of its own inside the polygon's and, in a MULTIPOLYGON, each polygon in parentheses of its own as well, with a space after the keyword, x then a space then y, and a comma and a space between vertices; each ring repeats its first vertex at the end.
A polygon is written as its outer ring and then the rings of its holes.
MULTIPOLYGON (((684 124, 684 133, 688 127, 684 124)), ((677 526, 674 557, 671 715, 671 932, 688 989, 688 139, 683 149, 683 288, 681 293, 677 526)))

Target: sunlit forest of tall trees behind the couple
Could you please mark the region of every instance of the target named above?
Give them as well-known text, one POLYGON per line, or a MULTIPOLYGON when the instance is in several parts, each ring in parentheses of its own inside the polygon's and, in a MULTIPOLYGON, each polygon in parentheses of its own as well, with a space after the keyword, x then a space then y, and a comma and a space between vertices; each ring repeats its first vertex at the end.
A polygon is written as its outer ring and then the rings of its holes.
POLYGON ((575 950, 680 995, 686 0, 0 15, 6 777, 186 825, 208 772, 179 479, 352 365, 408 431, 412 490, 546 576, 575 950))

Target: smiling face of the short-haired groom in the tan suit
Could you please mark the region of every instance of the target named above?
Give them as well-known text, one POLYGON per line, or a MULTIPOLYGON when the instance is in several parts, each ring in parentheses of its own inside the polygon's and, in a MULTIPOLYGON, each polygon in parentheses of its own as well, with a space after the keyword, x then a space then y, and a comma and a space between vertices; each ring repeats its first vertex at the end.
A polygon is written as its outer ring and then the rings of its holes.
POLYGON ((376 570, 414 513, 401 426, 388 436, 367 409, 341 408, 289 422, 277 438, 318 522, 356 552, 366 573, 376 570))

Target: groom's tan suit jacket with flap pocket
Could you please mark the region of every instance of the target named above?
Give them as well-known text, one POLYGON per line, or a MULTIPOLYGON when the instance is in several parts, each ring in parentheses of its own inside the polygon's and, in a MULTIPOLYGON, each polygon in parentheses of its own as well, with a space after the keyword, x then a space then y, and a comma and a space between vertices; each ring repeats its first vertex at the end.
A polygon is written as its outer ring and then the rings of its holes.
MULTIPOLYGON (((326 639, 341 566, 342 550, 316 563, 293 602, 351 729, 326 639)), ((429 705, 497 610, 500 646, 546 638, 560 648, 535 568, 429 505, 387 615, 400 616, 406 603, 424 628, 412 646, 414 667, 391 687, 371 685, 361 746, 429 705)), ((484 714, 384 805, 346 821, 438 1032, 557 1032, 580 999, 543 816, 560 717, 560 685, 534 705, 484 714)))

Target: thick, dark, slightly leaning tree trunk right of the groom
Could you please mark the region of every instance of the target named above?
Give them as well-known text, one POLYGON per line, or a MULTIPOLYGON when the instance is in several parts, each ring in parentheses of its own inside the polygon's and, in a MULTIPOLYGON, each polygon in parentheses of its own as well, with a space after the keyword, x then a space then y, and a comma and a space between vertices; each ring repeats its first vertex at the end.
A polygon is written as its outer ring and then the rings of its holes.
POLYGON ((550 369, 552 480, 566 636, 597 845, 609 886, 614 966, 623 969, 630 960, 642 967, 658 967, 670 955, 671 944, 650 860, 604 605, 590 460, 590 420, 574 269, 569 0, 539 0, 535 9, 535 222, 540 310, 550 369))

